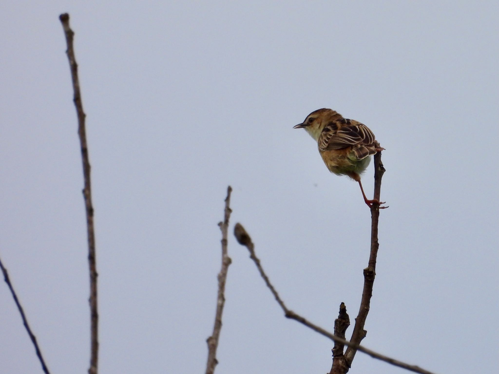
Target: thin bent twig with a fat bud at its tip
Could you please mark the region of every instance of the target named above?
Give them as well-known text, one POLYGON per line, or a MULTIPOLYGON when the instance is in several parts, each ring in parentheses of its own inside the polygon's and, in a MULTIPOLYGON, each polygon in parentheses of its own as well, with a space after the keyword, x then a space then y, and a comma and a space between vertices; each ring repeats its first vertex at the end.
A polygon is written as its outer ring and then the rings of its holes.
POLYGON ((295 320, 295 321, 305 325, 306 327, 312 329, 313 331, 331 339, 334 342, 338 342, 338 343, 343 344, 347 347, 355 348, 355 350, 357 350, 357 351, 364 352, 366 355, 369 355, 372 358, 384 361, 386 363, 389 363, 389 364, 394 365, 394 366, 398 366, 398 367, 403 368, 403 369, 407 369, 411 372, 420 373, 420 374, 434 374, 434 373, 429 372, 427 370, 421 369, 420 367, 418 367, 416 365, 409 365, 409 364, 403 363, 402 361, 398 361, 398 360, 392 359, 390 357, 381 355, 379 353, 371 351, 370 349, 364 348, 358 344, 349 342, 345 339, 342 339, 338 336, 335 336, 332 333, 330 333, 329 331, 324 330, 320 326, 314 325, 313 323, 307 321, 305 318, 303 318, 300 315, 289 310, 286 307, 286 305, 284 304, 284 302, 282 301, 282 299, 279 297, 279 294, 277 293, 275 288, 270 283, 268 276, 265 274, 265 272, 260 264, 260 259, 258 257, 256 257, 256 253, 254 251, 254 244, 251 241, 251 237, 241 223, 236 223, 236 226, 234 227, 234 235, 236 236, 236 239, 238 240, 239 244, 246 246, 246 248, 248 248, 248 250, 250 251, 250 258, 253 260, 256 267, 258 268, 258 271, 260 272, 261 277, 265 281, 265 284, 267 285, 267 287, 270 289, 270 292, 272 292, 272 294, 274 295, 275 300, 277 301, 277 303, 280 305, 280 307, 284 311, 284 315, 286 318, 295 320))

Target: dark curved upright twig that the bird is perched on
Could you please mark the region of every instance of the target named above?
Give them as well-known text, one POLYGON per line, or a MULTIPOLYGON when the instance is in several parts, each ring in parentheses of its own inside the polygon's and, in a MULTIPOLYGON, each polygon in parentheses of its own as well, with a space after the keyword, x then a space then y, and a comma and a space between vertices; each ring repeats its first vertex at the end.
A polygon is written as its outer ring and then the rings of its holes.
MULTIPOLYGON (((379 147, 379 144, 378 144, 379 147)), ((385 168, 381 162, 381 152, 374 155, 374 198, 379 201, 381 193, 381 179, 385 173, 385 168)), ((378 254, 378 222, 379 222, 379 204, 373 204, 371 207, 371 251, 369 255, 369 262, 364 269, 364 288, 362 290, 362 299, 360 301, 359 314, 355 319, 352 337, 350 341, 354 344, 360 344, 362 339, 367 334, 364 330, 367 314, 369 313, 369 306, 371 303, 371 296, 373 292, 374 277, 376 275, 376 256, 378 254)), ((345 360, 348 368, 351 366, 353 358, 355 357, 356 349, 348 347, 345 352, 345 360)), ((348 372, 348 370, 346 371, 348 372)), ((343 372, 343 373, 346 373, 343 372)))

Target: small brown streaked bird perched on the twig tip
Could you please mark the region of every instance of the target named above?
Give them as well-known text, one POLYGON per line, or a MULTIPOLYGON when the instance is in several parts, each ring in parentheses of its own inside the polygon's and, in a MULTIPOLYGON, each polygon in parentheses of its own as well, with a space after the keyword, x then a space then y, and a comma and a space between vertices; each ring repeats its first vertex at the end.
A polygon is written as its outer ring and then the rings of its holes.
POLYGON ((293 129, 305 129, 315 139, 322 160, 331 173, 348 176, 359 183, 364 201, 369 207, 373 203, 384 204, 377 199, 369 200, 360 182, 360 175, 369 165, 371 156, 384 149, 379 146, 366 125, 343 118, 334 110, 322 108, 310 113, 305 121, 293 129))

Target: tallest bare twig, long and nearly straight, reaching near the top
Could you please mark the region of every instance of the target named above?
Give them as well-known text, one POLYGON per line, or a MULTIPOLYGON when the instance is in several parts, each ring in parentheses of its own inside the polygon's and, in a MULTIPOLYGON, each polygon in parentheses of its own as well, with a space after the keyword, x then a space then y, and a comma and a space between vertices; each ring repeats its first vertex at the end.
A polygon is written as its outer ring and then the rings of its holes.
POLYGON ((74 56, 73 36, 74 32, 69 27, 69 14, 59 15, 62 23, 64 35, 67 44, 67 58, 71 70, 71 79, 73 82, 73 102, 78 116, 78 136, 80 138, 81 160, 83 164, 83 198, 85 200, 85 210, 87 215, 87 236, 88 236, 88 268, 90 273, 90 367, 89 374, 97 374, 99 341, 98 341, 98 323, 99 315, 97 313, 97 269, 95 264, 95 231, 93 224, 94 210, 92 206, 92 193, 90 188, 90 162, 88 160, 87 138, 85 133, 85 113, 81 102, 80 82, 78 80, 78 64, 74 56))

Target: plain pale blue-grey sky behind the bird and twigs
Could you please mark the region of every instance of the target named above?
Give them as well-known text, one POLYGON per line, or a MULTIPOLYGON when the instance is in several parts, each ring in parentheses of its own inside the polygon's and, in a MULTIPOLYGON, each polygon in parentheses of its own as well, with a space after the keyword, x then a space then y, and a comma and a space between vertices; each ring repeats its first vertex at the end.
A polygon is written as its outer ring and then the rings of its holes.
MULTIPOLYGON (((366 347, 437 373, 498 370, 497 1, 1 1, 0 254, 52 373, 89 360, 80 65, 97 235, 100 373, 203 373, 226 187, 289 307, 355 317, 358 186, 292 130, 329 107, 386 148, 366 347)), ((372 168, 364 177, 372 195, 372 168)), ((326 373, 231 235, 217 373, 326 373)), ((351 334, 348 330, 348 336, 351 334)), ((5 284, 1 373, 41 373, 5 284)), ((351 373, 401 373, 363 354, 351 373)))

